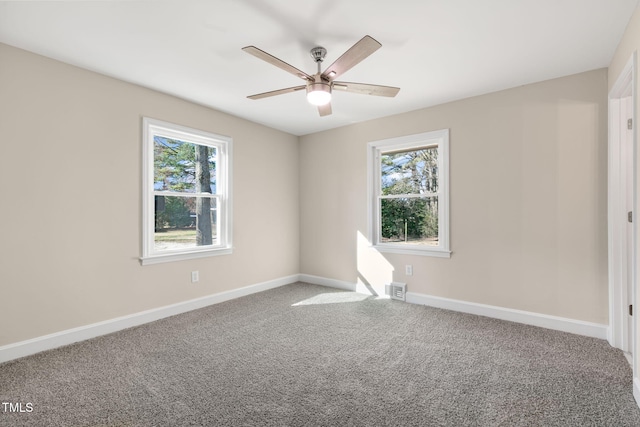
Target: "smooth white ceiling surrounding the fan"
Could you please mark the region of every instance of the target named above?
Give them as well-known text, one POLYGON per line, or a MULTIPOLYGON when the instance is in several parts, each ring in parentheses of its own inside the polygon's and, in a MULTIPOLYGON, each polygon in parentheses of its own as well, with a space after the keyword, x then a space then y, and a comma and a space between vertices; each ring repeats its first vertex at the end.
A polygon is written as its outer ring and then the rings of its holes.
POLYGON ((0 42, 304 135, 607 67, 638 1, 0 1, 0 42), (246 98, 301 81, 242 47, 313 74, 312 47, 328 66, 366 34, 382 48, 340 80, 395 98, 246 98))

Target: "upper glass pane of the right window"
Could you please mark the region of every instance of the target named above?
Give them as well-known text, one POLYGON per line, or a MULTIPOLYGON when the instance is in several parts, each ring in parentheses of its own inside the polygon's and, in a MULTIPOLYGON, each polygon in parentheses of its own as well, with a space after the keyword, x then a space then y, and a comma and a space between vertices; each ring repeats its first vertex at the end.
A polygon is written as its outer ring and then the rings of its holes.
POLYGON ((382 194, 438 192, 438 147, 380 156, 382 194))

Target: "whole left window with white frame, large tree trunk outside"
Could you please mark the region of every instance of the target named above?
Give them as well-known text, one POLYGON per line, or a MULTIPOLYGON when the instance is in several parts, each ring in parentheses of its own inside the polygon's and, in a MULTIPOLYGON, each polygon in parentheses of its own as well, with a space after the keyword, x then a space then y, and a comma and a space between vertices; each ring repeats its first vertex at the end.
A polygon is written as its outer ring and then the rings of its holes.
POLYGON ((232 140, 143 119, 142 264, 231 253, 232 140))

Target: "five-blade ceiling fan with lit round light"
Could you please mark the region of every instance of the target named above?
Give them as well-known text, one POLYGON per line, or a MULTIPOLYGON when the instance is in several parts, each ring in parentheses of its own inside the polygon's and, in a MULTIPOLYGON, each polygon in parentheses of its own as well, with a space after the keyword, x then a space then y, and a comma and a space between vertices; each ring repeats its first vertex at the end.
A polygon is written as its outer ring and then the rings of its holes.
POLYGON ((271 92, 259 93, 256 95, 248 96, 249 99, 262 99, 270 96, 282 95, 284 93, 297 92, 299 90, 306 89, 307 100, 318 106, 318 112, 321 116, 328 116, 331 114, 331 92, 335 90, 342 90, 345 92, 361 93, 365 95, 377 95, 394 97, 400 91, 398 87, 380 86, 366 83, 351 83, 340 82, 335 79, 346 71, 350 70, 354 65, 371 55, 378 50, 382 45, 378 43, 373 37, 364 36, 359 42, 354 44, 347 50, 342 56, 327 67, 324 72, 321 71, 322 61, 327 54, 327 50, 323 47, 314 47, 311 49, 311 57, 318 64, 318 71, 314 75, 309 75, 304 71, 297 69, 296 67, 287 64, 281 59, 276 58, 267 52, 258 49, 255 46, 246 46, 242 50, 245 52, 268 62, 271 65, 275 65, 278 68, 285 70, 288 73, 295 75, 296 77, 305 80, 306 83, 300 86, 289 87, 286 89, 274 90, 271 92))

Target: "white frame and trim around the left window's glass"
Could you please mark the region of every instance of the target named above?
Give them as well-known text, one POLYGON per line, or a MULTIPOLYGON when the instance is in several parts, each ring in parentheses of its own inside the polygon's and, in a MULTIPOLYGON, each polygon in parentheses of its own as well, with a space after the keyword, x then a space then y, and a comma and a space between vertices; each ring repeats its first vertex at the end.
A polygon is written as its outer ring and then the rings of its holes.
POLYGON ((162 120, 142 118, 142 265, 158 264, 162 262, 181 261, 216 255, 228 255, 233 251, 232 244, 232 174, 231 155, 233 140, 228 136, 180 126, 162 120), (193 248, 179 251, 154 252, 154 224, 155 203, 153 191, 153 137, 156 134, 188 142, 201 143, 216 147, 218 161, 216 170, 218 176, 224 177, 216 183, 220 193, 218 200, 218 219, 220 224, 220 244, 204 248, 193 248))

